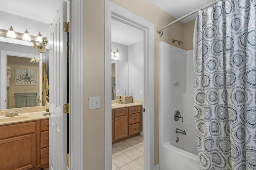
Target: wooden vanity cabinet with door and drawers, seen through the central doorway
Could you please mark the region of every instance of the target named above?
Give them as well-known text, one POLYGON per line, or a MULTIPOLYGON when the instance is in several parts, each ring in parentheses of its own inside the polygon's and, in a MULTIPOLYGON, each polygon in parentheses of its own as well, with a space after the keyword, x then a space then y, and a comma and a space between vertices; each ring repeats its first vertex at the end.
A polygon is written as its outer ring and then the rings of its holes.
POLYGON ((112 142, 141 132, 141 107, 112 109, 112 142))

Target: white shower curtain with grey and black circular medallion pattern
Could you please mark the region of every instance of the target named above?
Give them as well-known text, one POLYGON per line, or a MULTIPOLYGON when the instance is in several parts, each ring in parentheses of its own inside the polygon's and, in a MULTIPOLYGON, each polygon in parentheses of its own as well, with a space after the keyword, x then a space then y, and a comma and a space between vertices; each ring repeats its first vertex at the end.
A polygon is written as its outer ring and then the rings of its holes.
POLYGON ((256 170, 256 0, 224 0, 195 25, 200 170, 256 170))

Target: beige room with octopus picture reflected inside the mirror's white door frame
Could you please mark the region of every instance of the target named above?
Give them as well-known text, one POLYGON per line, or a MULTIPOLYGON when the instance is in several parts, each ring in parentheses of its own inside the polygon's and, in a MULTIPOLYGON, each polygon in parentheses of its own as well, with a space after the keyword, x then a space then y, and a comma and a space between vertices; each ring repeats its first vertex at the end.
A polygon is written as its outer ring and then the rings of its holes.
POLYGON ((39 106, 39 63, 30 58, 7 55, 10 79, 6 79, 6 109, 39 106), (10 83, 9 83, 10 82, 10 83))

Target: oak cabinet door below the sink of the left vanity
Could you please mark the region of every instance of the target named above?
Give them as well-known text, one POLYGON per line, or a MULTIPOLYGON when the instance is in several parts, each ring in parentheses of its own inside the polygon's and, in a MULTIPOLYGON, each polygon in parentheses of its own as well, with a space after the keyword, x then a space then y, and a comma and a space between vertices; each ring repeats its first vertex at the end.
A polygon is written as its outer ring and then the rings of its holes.
POLYGON ((27 170, 36 166, 36 134, 0 140, 1 170, 27 170))

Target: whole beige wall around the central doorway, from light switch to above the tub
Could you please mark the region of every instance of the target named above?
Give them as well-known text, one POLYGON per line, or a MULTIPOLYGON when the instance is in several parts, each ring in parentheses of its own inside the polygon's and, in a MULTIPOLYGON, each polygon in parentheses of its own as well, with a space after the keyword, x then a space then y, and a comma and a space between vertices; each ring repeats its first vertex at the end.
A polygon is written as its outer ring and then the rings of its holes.
MULTIPOLYGON (((110 0, 154 24, 158 30, 175 19, 148 0, 110 0)), ((104 169, 104 0, 84 0, 83 35, 83 137, 84 169, 104 169), (100 96, 101 108, 88 110, 88 97, 100 96)), ((191 24, 190 24, 191 25, 191 24)), ((186 28, 186 30, 189 28, 186 28)), ((194 29, 194 26, 193 28, 194 29)), ((186 35, 188 36, 188 35, 186 35)), ((154 35, 155 69, 155 165, 159 164, 159 42, 172 44, 172 39, 184 42, 184 26, 177 22, 164 29, 164 35, 154 35)), ((191 43, 191 38, 186 42, 191 43)), ((185 46, 179 46, 179 48, 185 46)), ((190 48, 191 45, 186 45, 190 48)))

